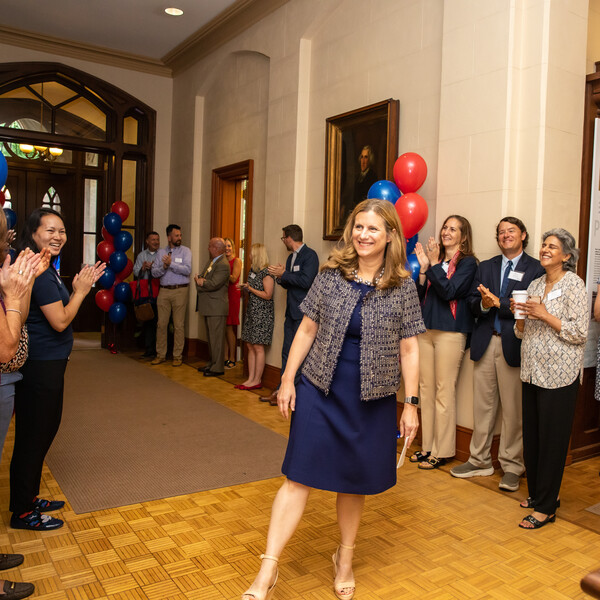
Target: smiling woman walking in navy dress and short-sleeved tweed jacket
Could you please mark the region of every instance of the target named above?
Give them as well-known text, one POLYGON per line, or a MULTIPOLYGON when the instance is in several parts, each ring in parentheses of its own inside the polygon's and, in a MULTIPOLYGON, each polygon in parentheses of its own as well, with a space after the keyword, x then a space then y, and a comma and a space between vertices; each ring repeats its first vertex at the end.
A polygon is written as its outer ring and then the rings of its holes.
POLYGON ((334 593, 341 600, 354 596, 352 557, 365 495, 396 483, 399 361, 408 401, 400 432, 410 444, 418 428, 416 336, 425 326, 405 263, 393 205, 376 199, 358 204, 300 307, 304 317, 277 396, 281 414, 292 413, 282 468, 287 479, 273 502, 260 571, 242 600, 273 594, 279 555, 311 488, 337 493, 334 593))

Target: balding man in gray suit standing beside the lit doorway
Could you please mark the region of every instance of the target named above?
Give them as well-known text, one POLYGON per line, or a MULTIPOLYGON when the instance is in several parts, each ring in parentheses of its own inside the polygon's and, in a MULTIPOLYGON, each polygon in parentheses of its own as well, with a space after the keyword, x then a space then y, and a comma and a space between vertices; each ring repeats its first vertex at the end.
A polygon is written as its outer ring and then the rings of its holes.
POLYGON ((224 373, 225 325, 229 312, 227 286, 230 270, 223 238, 212 238, 208 243, 208 252, 210 259, 202 275, 194 277, 198 293, 196 310, 204 317, 210 352, 207 365, 198 371, 203 371, 204 377, 216 377, 224 373))

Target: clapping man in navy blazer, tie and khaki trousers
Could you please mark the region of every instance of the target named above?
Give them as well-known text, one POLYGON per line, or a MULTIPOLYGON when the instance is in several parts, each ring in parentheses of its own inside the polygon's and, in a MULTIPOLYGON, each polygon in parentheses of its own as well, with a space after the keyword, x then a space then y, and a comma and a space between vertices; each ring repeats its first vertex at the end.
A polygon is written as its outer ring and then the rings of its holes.
POLYGON ((473 368, 473 436, 471 456, 450 470, 454 477, 493 475, 491 446, 498 406, 502 428, 498 460, 504 471, 500 489, 519 489, 523 463, 521 417, 521 340, 514 334, 510 297, 526 290, 544 274, 539 261, 525 254, 529 234, 516 217, 505 217, 496 227, 502 254, 480 263, 470 297, 477 319, 471 335, 473 368))

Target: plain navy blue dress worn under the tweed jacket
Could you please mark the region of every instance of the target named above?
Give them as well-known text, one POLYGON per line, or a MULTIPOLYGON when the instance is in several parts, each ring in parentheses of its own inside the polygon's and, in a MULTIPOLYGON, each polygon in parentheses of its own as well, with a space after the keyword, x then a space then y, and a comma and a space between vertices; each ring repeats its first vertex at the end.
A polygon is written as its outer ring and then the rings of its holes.
POLYGON ((304 376, 282 471, 291 481, 344 494, 379 494, 396 484, 396 395, 360 399, 361 291, 328 395, 304 376))

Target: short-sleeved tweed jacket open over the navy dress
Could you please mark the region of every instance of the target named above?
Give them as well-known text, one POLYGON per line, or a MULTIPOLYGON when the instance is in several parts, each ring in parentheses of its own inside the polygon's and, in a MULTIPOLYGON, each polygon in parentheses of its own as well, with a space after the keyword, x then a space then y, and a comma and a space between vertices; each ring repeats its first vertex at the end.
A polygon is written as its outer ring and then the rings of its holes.
MULTIPOLYGON (((317 275, 300 310, 319 325, 302 374, 325 394, 360 298, 360 291, 337 269, 317 275)), ((395 288, 373 289, 364 296, 360 340, 360 398, 377 400, 400 386, 400 340, 425 332, 412 279, 395 288)))

